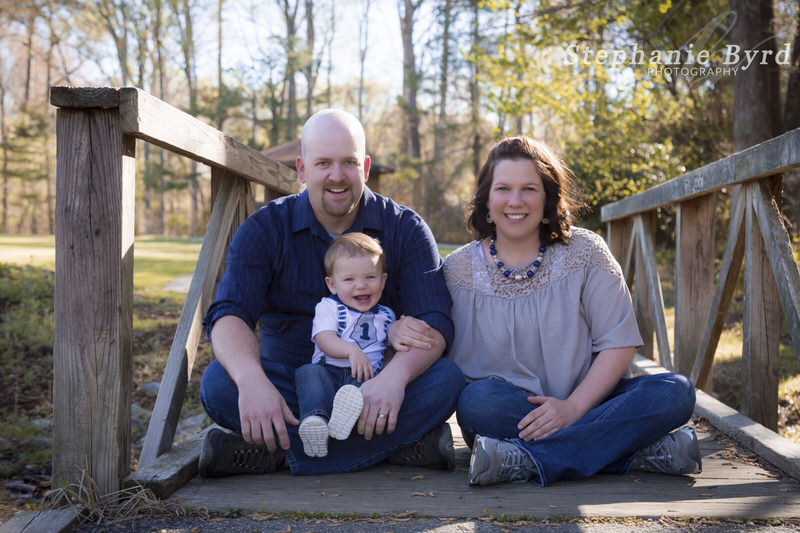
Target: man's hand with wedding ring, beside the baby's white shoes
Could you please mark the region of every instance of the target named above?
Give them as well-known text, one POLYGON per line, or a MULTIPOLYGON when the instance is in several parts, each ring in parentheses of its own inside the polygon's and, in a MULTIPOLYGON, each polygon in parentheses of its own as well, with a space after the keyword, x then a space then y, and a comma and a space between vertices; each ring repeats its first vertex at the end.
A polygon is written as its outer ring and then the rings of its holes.
POLYGON ((406 394, 405 382, 393 378, 386 370, 361 385, 364 407, 358 417, 358 433, 370 440, 372 435, 392 433, 397 414, 406 394))

